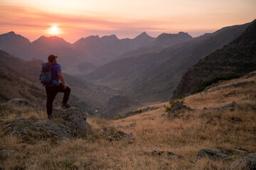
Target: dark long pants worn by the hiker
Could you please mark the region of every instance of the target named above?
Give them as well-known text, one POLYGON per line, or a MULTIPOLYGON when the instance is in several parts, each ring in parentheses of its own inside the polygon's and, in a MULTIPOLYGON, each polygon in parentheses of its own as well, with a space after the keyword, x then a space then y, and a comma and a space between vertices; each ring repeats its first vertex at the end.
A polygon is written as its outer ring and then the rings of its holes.
POLYGON ((46 94, 47 94, 46 108, 47 108, 48 115, 51 115, 53 113, 53 100, 55 96, 58 94, 58 92, 64 93, 63 103, 68 102, 68 98, 70 96, 70 88, 68 86, 66 89, 63 89, 63 84, 60 84, 59 86, 46 87, 46 94))

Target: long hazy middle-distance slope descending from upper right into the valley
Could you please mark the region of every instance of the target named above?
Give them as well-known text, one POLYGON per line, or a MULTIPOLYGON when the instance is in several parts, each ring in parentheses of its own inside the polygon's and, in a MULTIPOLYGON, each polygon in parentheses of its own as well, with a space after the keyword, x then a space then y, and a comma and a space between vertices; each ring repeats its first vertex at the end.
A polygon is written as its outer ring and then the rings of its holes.
POLYGON ((107 63, 85 79, 142 102, 167 101, 188 67, 237 38, 250 23, 223 28, 181 44, 151 51, 144 48, 107 63))

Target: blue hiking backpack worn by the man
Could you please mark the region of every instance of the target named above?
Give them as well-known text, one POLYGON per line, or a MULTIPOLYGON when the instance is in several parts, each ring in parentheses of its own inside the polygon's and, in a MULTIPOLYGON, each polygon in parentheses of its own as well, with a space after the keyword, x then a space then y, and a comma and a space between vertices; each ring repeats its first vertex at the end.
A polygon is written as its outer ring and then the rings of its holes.
POLYGON ((52 84, 53 77, 52 77, 52 70, 53 70, 54 63, 52 62, 45 62, 42 64, 42 71, 40 75, 40 80, 43 85, 50 85, 52 84))

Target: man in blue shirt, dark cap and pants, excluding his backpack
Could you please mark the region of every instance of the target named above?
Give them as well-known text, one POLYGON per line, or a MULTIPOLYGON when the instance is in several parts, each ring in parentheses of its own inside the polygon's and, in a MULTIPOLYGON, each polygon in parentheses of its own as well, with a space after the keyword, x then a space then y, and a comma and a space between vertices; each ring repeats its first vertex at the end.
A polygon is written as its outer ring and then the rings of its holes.
POLYGON ((70 88, 65 85, 65 81, 63 79, 63 76, 61 74, 60 65, 57 64, 57 56, 55 55, 49 55, 48 62, 54 63, 52 68, 52 81, 51 84, 46 85, 46 94, 47 94, 47 102, 46 102, 46 108, 47 108, 47 115, 48 119, 51 120, 53 118, 53 100, 55 96, 58 94, 58 92, 63 92, 63 102, 61 107, 62 108, 70 108, 70 105, 68 104, 68 98, 70 96, 70 88), (62 82, 59 84, 59 80, 62 82))

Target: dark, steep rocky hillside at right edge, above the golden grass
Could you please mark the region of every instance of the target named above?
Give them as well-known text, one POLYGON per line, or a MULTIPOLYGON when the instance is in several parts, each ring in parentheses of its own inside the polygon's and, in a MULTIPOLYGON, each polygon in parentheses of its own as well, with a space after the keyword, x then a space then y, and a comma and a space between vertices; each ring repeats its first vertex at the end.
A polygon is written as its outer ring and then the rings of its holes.
POLYGON ((245 75, 256 69, 256 21, 229 45, 210 53, 181 78, 173 98, 196 90, 204 81, 226 74, 245 75))

